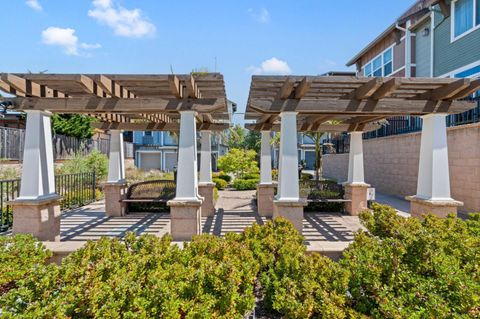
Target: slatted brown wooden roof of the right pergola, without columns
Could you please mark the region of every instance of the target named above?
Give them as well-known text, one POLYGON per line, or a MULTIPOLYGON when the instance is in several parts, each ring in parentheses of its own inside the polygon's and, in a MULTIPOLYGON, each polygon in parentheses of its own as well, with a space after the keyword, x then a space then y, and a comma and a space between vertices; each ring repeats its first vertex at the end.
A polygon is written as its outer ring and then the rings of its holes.
POLYGON ((470 79, 253 76, 245 119, 255 121, 249 129, 278 131, 279 114, 293 111, 298 131, 371 131, 391 116, 469 110, 459 99, 479 89, 470 79))

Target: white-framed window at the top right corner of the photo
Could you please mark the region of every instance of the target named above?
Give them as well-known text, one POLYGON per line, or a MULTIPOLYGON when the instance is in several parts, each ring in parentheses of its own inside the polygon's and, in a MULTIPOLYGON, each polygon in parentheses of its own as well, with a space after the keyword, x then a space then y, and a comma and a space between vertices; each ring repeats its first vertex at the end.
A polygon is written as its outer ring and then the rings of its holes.
POLYGON ((452 11, 453 40, 480 26, 480 0, 456 0, 452 11))

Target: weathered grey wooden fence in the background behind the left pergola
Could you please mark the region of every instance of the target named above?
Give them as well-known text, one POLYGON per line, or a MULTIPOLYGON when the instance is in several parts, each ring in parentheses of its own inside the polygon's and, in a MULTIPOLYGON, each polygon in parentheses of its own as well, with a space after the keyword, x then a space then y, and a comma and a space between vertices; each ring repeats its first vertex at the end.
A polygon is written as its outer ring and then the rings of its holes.
MULTIPOLYGON (((0 160, 23 159, 25 130, 0 127, 0 160)), ((81 139, 72 136, 54 134, 52 137, 53 156, 55 160, 70 159, 75 155, 87 155, 93 150, 107 155, 110 141, 106 138, 81 139)), ((124 142, 126 158, 133 158, 133 144, 124 142)))

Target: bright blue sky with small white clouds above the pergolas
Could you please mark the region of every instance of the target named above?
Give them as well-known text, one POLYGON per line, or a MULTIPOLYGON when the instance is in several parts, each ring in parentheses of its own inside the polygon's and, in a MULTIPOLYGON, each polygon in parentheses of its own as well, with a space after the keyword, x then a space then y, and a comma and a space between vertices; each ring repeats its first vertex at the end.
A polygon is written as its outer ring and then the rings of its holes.
POLYGON ((225 76, 227 96, 242 112, 253 73, 347 70, 345 63, 414 1, 1 2, 0 72, 207 68, 225 76))

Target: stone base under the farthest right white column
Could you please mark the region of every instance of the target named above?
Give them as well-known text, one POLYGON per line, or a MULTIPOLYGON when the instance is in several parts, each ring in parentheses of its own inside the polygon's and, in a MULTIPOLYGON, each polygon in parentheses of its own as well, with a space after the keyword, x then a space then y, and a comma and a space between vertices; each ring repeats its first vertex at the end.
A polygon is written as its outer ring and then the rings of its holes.
POLYGON ((463 202, 456 200, 428 200, 416 196, 407 196, 410 201, 410 214, 412 217, 423 218, 427 214, 433 214, 445 218, 449 214, 457 216, 457 208, 463 206, 463 202))

